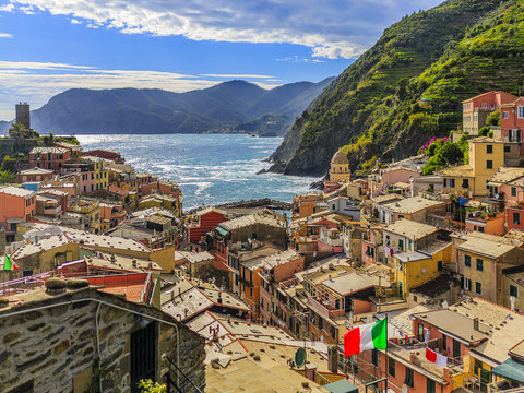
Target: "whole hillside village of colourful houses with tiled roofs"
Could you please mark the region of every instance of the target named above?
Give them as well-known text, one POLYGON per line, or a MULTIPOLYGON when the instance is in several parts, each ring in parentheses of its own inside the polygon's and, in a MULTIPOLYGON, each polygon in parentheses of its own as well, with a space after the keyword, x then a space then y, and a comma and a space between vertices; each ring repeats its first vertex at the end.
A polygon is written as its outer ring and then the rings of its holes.
POLYGON ((118 152, 12 133, 0 391, 523 392, 524 97, 465 100, 451 141, 467 162, 429 175, 414 152, 355 176, 340 150, 290 211, 184 212, 118 152), (345 356, 382 320, 385 349, 345 356))

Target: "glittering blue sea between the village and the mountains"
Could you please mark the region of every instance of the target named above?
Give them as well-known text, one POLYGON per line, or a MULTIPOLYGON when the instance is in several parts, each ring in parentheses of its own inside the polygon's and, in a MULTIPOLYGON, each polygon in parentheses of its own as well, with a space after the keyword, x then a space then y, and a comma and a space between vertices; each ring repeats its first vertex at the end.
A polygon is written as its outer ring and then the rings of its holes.
POLYGON ((282 138, 237 134, 78 135, 84 151, 120 152, 136 171, 177 182, 184 210, 225 202, 272 198, 290 202, 317 178, 257 175, 282 138))

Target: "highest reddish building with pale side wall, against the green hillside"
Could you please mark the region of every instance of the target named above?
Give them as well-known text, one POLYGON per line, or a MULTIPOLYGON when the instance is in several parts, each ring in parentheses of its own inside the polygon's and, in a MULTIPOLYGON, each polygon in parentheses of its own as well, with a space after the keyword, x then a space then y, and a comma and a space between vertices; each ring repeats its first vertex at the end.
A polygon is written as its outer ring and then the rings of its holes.
POLYGON ((465 133, 477 135, 478 130, 486 126, 486 118, 504 104, 514 102, 517 97, 501 91, 480 94, 462 102, 462 129, 465 133))

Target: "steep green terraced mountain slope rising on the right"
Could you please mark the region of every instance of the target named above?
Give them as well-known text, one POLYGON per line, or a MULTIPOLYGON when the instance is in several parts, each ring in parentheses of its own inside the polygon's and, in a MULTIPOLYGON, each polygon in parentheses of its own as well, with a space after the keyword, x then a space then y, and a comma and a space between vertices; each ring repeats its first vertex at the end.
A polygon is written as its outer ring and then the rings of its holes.
POLYGON ((273 171, 323 175, 343 146, 352 169, 405 158, 462 122, 467 97, 517 94, 523 0, 449 0, 405 16, 342 72, 272 155, 273 171))

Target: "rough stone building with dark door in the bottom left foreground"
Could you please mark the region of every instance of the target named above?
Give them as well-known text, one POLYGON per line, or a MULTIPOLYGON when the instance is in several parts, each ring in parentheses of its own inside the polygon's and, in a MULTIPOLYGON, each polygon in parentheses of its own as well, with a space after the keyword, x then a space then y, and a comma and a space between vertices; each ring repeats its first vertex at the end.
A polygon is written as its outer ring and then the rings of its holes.
POLYGON ((170 380, 184 392, 204 389, 203 338, 160 310, 84 279, 49 278, 46 289, 9 299, 0 310, 9 345, 2 392, 130 393, 141 379, 170 380))

